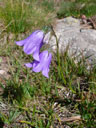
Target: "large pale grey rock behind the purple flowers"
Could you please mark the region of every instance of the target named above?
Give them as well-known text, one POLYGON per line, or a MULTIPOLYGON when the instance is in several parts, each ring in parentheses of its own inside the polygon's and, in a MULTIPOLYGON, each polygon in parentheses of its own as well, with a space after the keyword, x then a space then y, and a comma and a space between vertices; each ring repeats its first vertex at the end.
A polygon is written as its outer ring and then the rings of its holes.
MULTIPOLYGON (((80 19, 73 17, 67 17, 56 21, 56 25, 53 26, 55 34, 57 35, 59 42, 60 53, 64 52, 66 47, 69 45, 69 54, 83 52, 86 57, 91 56, 89 60, 93 61, 96 57, 96 30, 94 29, 80 29, 80 19)), ((45 38, 49 39, 49 45, 53 51, 56 52, 56 39, 54 36, 47 33, 45 38), (49 37, 48 37, 49 35, 49 37)), ((48 42, 47 42, 48 43, 48 42)))

